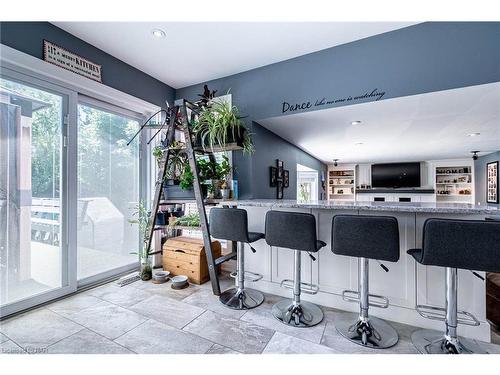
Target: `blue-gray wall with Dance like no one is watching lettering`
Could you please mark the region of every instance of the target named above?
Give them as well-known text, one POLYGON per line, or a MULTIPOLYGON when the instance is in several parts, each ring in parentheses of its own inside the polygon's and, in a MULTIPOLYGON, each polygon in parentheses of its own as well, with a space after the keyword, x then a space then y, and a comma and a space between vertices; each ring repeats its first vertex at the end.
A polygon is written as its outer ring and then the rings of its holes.
MULTIPOLYGON (((500 81, 500 22, 426 22, 208 82, 258 121, 282 103, 385 92, 382 100, 500 81)), ((176 91, 194 99, 194 85, 176 91)), ((307 110, 373 101, 365 98, 307 110)))

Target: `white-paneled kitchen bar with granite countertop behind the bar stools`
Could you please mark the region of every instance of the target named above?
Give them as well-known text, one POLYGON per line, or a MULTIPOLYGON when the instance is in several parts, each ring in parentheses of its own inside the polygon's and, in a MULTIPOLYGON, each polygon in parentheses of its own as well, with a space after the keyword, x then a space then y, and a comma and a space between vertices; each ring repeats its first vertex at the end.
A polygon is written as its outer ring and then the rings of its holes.
MULTIPOLYGON (((319 293, 302 298, 319 305, 347 311, 358 311, 358 305, 345 302, 342 291, 357 290, 357 259, 335 255, 331 251, 332 218, 338 214, 394 216, 399 223, 400 259, 397 263, 386 263, 385 272, 378 262, 370 261, 370 292, 389 298, 387 309, 371 308, 370 314, 381 318, 414 326, 444 329, 444 323, 421 317, 415 310, 419 304, 444 306, 444 269, 417 265, 406 250, 420 247, 422 229, 426 219, 453 218, 484 220, 500 214, 495 207, 446 203, 401 203, 401 202, 347 202, 253 199, 222 202, 224 206, 238 206, 248 212, 249 230, 265 232, 265 215, 269 210, 308 212, 316 217, 318 239, 327 243, 313 261, 307 253, 302 257, 302 280, 319 286, 319 293)), ((271 247, 264 240, 252 246, 254 254, 245 248, 245 268, 263 275, 259 282, 248 285, 264 292, 290 298, 287 289, 280 288, 283 279, 293 278, 293 251, 271 247)), ((481 274, 481 273, 480 273, 481 274)), ((483 275, 484 276, 484 275, 483 275)), ((490 341, 490 326, 486 321, 485 282, 469 272, 459 270, 459 310, 474 314, 479 327, 459 326, 459 333, 470 338, 490 341)))

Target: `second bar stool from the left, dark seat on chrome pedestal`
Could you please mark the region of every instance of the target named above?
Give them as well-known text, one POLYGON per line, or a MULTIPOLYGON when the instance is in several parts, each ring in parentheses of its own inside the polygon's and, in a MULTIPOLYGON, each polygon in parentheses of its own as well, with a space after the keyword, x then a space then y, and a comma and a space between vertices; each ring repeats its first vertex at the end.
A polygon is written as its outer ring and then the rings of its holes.
POLYGON ((292 327, 312 327, 323 320, 323 311, 310 303, 300 300, 301 292, 316 294, 319 288, 311 283, 301 282, 301 255, 317 252, 326 243, 316 238, 314 215, 300 212, 268 211, 266 214, 266 242, 294 250, 293 280, 283 280, 281 287, 293 290, 293 300, 282 300, 273 306, 272 313, 280 322, 292 327))

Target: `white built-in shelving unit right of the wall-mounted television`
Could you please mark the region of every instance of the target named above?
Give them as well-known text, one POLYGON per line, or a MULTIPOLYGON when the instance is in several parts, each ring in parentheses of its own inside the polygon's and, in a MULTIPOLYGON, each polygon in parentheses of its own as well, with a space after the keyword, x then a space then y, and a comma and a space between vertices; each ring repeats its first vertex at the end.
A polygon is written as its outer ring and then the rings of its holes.
POLYGON ((474 203, 473 173, 470 165, 435 168, 436 201, 474 203))

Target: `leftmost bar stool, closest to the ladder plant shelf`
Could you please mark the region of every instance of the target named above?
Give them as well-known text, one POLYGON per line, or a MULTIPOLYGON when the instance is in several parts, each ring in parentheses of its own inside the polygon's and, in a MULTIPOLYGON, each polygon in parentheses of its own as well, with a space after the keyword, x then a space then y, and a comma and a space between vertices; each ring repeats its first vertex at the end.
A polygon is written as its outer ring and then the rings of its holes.
MULTIPOLYGON (((247 212, 240 208, 212 208, 210 210, 210 234, 219 239, 238 242, 236 250, 236 287, 221 293, 219 301, 234 310, 248 310, 264 302, 264 295, 255 289, 245 288, 245 280, 252 282, 262 279, 262 275, 245 272, 245 244, 263 239, 264 233, 248 231, 247 212)), ((250 245, 255 253, 255 249, 250 245)))

